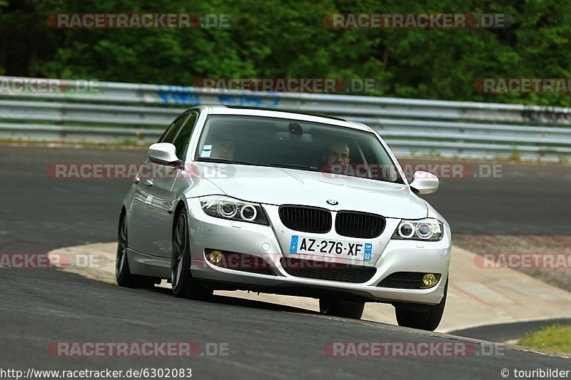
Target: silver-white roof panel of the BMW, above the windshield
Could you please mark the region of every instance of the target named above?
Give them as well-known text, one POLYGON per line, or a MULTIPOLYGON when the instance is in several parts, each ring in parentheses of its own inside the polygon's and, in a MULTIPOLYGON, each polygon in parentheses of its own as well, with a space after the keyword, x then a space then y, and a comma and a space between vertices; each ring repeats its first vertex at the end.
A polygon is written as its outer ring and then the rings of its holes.
POLYGON ((210 106, 196 106, 203 111, 207 111, 210 115, 245 115, 245 116, 265 116, 268 118, 287 118, 293 120, 310 121, 313 123, 324 123, 330 125, 338 125, 345 128, 353 128, 358 130, 365 130, 373 132, 368 125, 363 123, 355 123, 342 118, 335 118, 328 115, 318 115, 314 113, 301 113, 298 111, 276 110, 273 108, 258 108, 258 107, 241 107, 241 106, 223 106, 223 105, 210 105, 210 106))

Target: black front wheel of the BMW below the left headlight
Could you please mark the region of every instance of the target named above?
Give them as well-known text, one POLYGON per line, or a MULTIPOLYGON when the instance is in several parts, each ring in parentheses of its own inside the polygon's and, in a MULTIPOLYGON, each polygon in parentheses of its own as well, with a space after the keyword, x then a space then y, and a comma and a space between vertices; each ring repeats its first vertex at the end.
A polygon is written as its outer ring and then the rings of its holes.
POLYGON ((203 287, 191 273, 191 248, 188 240, 188 217, 186 209, 178 212, 173 229, 171 258, 171 284, 177 298, 208 299, 212 290, 203 287))

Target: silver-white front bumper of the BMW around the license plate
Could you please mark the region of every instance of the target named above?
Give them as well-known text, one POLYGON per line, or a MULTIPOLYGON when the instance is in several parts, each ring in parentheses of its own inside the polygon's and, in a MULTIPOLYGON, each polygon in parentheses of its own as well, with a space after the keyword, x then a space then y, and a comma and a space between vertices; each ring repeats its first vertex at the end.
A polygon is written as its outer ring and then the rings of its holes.
MULTIPOLYGON (((410 302, 438 304, 444 295, 445 283, 450 266, 450 227, 445 225, 443 240, 439 242, 418 242, 412 240, 390 240, 398 219, 386 219, 386 227, 375 239, 357 239, 373 244, 370 262, 358 260, 336 260, 344 264, 373 266, 376 272, 367 282, 360 284, 295 277, 283 269, 281 257, 303 257, 316 261, 326 260, 320 256, 290 254, 289 246, 293 235, 300 232, 288 230, 281 224, 278 206, 262 205, 271 225, 256 225, 248 222, 233 222, 206 215, 198 198, 189 198, 188 216, 191 226, 191 252, 193 277, 208 282, 231 284, 236 289, 253 289, 271 293, 296 294, 307 290, 308 297, 318 297, 320 292, 335 292, 345 297, 358 297, 370 302, 410 302), (244 272, 218 267, 208 262, 205 250, 239 252, 262 257, 271 265, 274 275, 244 272), (395 289, 378 287, 389 274, 395 272, 438 273, 442 276, 438 284, 430 289, 395 289)), ((301 233, 301 235, 312 235, 301 233)), ((315 235, 317 238, 348 240, 335 231, 315 235)))

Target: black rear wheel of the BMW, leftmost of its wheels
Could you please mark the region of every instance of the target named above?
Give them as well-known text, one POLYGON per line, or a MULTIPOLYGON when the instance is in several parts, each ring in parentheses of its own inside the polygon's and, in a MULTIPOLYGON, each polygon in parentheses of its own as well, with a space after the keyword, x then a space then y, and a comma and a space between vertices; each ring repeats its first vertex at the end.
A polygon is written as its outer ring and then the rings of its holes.
POLYGON ((117 256, 115 260, 115 278, 120 287, 154 287, 158 279, 154 277, 131 274, 127 255, 127 222, 125 212, 119 217, 119 229, 117 233, 117 256))

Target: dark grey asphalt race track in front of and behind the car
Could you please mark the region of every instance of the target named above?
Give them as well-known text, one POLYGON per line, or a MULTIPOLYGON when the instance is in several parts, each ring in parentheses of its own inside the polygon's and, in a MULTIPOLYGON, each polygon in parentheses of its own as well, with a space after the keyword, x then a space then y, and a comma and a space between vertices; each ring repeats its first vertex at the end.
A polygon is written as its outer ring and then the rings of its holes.
MULTIPOLYGON (((113 241, 130 180, 52 180, 46 167, 138 163, 145 154, 144 150, 0 145, 0 252, 41 253, 113 241)), ((455 232, 569 230, 569 167, 506 164, 503 168, 503 178, 443 180, 440 191, 428 199, 455 232)), ((502 379, 501 369, 571 369, 569 359, 514 349, 495 356, 330 357, 323 351, 328 342, 461 342, 461 338, 328 319, 231 297, 181 300, 163 289, 124 289, 52 269, 0 269, 0 284, 1 369, 191 368, 195 379, 502 379), (66 358, 47 351, 50 342, 143 341, 197 342, 201 349, 206 343, 227 343, 229 354, 66 358)), ((481 344, 475 346, 479 351, 481 344)))

